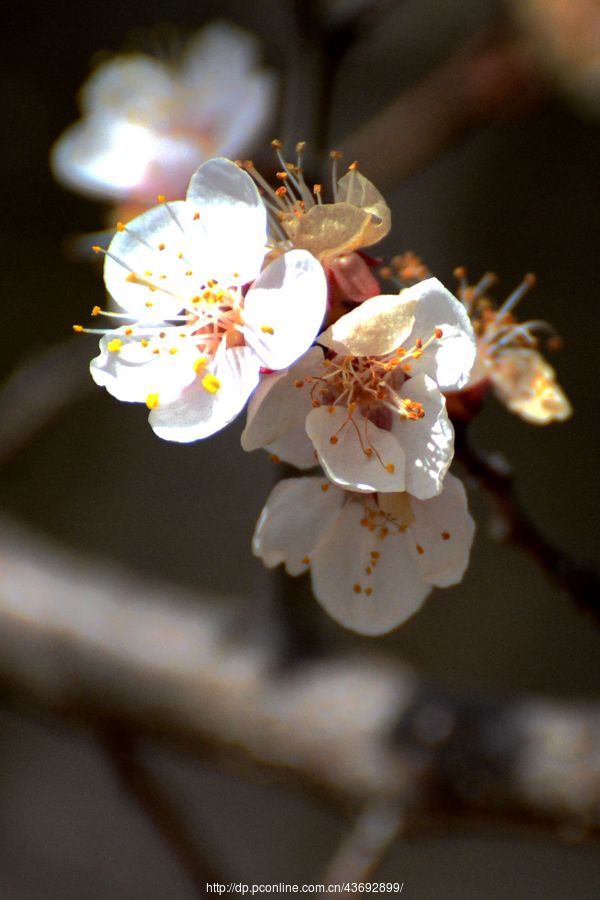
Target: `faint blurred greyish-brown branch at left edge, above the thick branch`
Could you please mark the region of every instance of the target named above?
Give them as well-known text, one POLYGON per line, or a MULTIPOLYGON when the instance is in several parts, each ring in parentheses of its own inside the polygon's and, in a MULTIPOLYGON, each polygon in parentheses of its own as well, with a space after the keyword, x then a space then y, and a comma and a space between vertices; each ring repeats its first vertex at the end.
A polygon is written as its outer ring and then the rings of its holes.
POLYGON ((70 338, 41 350, 0 386, 0 465, 91 391, 89 360, 89 344, 70 338))

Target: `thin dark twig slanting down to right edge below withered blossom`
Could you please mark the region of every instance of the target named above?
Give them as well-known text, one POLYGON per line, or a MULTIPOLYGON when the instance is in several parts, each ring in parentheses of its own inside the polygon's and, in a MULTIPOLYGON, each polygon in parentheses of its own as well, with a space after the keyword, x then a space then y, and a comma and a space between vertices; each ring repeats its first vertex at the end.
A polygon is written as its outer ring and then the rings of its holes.
POLYGON ((592 565, 576 562, 538 531, 519 503, 513 475, 500 469, 469 442, 468 429, 455 423, 455 454, 469 475, 488 491, 507 526, 505 543, 525 550, 546 575, 600 622, 600 577, 592 565))

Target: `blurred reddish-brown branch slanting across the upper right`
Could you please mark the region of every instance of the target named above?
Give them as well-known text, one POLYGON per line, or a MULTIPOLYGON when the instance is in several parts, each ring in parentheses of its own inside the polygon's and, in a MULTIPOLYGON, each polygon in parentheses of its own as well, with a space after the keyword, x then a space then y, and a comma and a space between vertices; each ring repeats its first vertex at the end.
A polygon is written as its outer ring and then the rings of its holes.
POLYGON ((538 79, 528 55, 501 34, 479 36, 401 93, 341 144, 379 189, 423 168, 476 126, 527 107, 538 79))

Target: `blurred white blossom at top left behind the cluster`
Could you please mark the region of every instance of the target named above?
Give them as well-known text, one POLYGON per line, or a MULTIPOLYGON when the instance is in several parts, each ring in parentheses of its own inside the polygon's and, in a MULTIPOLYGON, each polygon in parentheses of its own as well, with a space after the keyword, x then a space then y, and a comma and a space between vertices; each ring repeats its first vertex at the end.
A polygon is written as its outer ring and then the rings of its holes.
POLYGON ((83 118, 56 142, 59 181, 100 199, 149 205, 180 198, 198 166, 238 156, 271 117, 274 77, 255 39, 224 22, 193 36, 171 64, 130 54, 84 85, 83 118))

